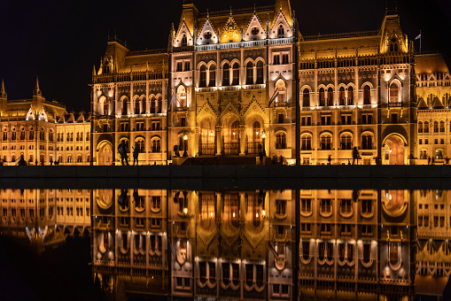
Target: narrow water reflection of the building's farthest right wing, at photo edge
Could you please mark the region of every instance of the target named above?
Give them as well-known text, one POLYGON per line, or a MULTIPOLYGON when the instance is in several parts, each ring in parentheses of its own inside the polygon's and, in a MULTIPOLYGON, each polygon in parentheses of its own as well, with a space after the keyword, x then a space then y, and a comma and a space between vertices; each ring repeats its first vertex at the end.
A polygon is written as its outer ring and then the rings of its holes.
POLYGON ((416 292, 441 296, 451 274, 450 204, 446 190, 416 190, 416 292))

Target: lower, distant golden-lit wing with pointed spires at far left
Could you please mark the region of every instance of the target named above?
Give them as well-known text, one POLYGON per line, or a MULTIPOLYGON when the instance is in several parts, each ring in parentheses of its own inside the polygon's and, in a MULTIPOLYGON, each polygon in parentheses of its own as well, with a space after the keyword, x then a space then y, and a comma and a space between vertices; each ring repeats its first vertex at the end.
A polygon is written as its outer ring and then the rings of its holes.
POLYGON ((67 113, 66 107, 43 97, 36 80, 32 99, 8 100, 0 90, 2 128, 0 156, 4 165, 20 158, 30 165, 89 165, 90 115, 67 113))

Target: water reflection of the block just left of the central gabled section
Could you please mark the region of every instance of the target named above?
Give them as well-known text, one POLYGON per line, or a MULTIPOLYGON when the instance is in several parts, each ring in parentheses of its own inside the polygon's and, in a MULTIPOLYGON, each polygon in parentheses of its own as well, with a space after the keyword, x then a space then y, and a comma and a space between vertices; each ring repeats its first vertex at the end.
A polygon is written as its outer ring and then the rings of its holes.
POLYGON ((93 274, 103 289, 123 295, 167 295, 165 190, 93 192, 93 274))

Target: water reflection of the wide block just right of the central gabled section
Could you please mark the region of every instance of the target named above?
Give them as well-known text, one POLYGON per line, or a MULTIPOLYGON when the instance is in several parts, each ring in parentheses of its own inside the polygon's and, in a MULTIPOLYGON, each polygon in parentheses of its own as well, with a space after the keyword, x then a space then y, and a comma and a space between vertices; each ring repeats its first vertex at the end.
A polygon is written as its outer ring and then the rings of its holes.
POLYGON ((413 293, 408 192, 382 192, 381 198, 379 203, 376 190, 301 190, 303 299, 377 300, 413 293))

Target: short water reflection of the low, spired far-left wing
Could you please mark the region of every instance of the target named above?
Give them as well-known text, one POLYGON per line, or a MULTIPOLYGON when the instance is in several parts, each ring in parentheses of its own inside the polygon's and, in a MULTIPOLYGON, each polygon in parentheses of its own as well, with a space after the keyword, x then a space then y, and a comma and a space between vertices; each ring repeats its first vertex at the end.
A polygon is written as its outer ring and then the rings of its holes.
POLYGON ((1 235, 28 238, 37 251, 90 233, 89 190, 6 189, 0 198, 1 235))

